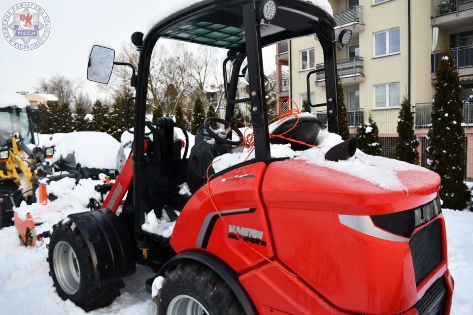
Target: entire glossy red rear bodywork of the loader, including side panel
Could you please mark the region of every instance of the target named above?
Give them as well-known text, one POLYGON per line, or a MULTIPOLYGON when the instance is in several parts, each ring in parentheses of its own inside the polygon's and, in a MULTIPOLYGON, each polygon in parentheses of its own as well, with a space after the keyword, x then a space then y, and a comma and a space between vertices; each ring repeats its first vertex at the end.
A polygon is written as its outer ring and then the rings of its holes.
MULTIPOLYGON (((246 165, 210 182, 223 220, 212 205, 207 184, 181 212, 171 246, 177 253, 207 251, 226 262, 240 275, 260 314, 416 315, 413 306, 441 276, 448 286, 449 309, 453 279, 446 251, 439 267, 416 286, 408 239, 376 238, 338 219, 338 214, 413 209, 438 195, 435 173, 399 171, 397 176, 404 190, 381 189, 303 160, 246 165), (229 225, 262 232, 264 246, 245 242, 242 235, 229 237, 234 231, 229 225)), ((436 220, 441 221, 446 242, 443 217, 436 220)))

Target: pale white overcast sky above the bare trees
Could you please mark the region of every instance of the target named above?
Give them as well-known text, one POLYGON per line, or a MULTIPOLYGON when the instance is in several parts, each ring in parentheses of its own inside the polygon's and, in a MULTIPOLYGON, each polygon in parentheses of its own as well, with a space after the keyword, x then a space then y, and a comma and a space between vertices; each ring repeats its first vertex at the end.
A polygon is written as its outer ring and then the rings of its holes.
MULTIPOLYGON (((49 15, 51 32, 46 42, 32 51, 20 51, 0 36, 0 91, 34 92, 38 78, 60 74, 82 78, 92 98, 96 85, 86 80, 89 48, 108 42, 118 49, 135 31, 145 32, 147 22, 165 5, 176 0, 34 0, 49 15)), ((18 0, 1 0, 0 17, 18 0)), ((274 46, 265 49, 274 63, 274 46)), ((265 63, 266 65, 266 63, 265 63)), ((272 65, 272 69, 274 69, 272 65)), ((94 99, 93 99, 94 100, 94 99)))

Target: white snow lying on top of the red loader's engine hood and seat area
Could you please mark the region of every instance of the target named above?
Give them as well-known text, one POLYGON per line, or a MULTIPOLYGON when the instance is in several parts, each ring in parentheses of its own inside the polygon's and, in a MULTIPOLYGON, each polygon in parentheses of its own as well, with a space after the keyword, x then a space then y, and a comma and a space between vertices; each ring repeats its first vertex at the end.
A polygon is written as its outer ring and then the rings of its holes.
MULTIPOLYGON (((312 114, 302 113, 299 116, 308 116, 312 114)), ((270 130, 274 130, 275 125, 278 122, 272 123, 269 126, 270 130)), ((243 132, 243 130, 242 130, 243 132)), ((244 129, 244 132, 248 134, 250 130, 244 129)), ((374 157, 363 153, 361 150, 357 150, 355 156, 344 161, 327 161, 325 160, 325 154, 333 146, 343 142, 338 134, 328 132, 327 130, 321 130, 317 136, 318 146, 304 151, 294 151, 291 149, 290 144, 271 144, 271 157, 272 158, 294 158, 305 160, 307 163, 316 164, 322 167, 328 167, 338 172, 346 173, 354 177, 364 179, 373 185, 386 189, 386 190, 406 190, 401 179, 397 173, 401 171, 423 171, 430 172, 428 169, 409 164, 403 161, 374 157)), ((215 172, 220 172, 227 167, 236 165, 245 160, 255 158, 254 150, 249 154, 250 149, 243 149, 240 153, 227 153, 220 157, 215 158, 212 167, 215 172)))

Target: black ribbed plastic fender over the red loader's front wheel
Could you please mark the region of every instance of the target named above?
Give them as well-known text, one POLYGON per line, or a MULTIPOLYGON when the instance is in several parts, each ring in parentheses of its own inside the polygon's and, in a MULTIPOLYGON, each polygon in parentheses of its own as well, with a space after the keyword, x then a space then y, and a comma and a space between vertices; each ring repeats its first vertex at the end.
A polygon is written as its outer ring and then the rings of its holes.
POLYGON ((68 218, 75 223, 87 243, 94 264, 95 284, 105 284, 135 273, 135 247, 128 230, 110 209, 75 213, 68 218))

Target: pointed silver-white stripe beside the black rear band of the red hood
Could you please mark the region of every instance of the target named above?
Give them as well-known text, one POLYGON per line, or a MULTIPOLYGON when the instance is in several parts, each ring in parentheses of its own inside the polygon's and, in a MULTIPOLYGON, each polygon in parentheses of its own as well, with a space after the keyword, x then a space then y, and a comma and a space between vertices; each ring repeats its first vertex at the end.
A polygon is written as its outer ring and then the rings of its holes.
POLYGON ((393 242, 408 242, 409 239, 391 234, 385 230, 380 229, 379 227, 373 224, 370 216, 349 216, 349 215, 338 215, 338 220, 343 225, 346 225, 354 230, 359 232, 393 242))

